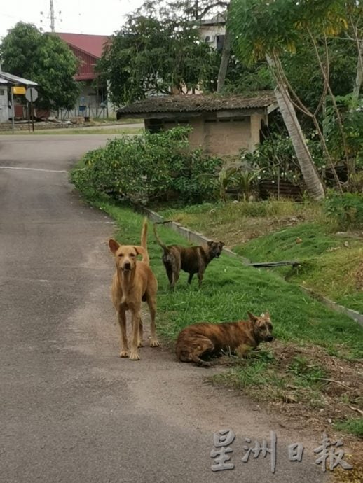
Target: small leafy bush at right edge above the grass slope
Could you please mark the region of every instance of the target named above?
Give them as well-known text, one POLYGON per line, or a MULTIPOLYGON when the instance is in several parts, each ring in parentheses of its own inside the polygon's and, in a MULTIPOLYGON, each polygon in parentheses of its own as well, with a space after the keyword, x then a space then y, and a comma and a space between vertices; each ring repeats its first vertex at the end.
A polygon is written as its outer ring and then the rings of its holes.
POLYGON ((363 228, 363 195, 329 193, 325 209, 328 216, 336 220, 339 229, 363 228))

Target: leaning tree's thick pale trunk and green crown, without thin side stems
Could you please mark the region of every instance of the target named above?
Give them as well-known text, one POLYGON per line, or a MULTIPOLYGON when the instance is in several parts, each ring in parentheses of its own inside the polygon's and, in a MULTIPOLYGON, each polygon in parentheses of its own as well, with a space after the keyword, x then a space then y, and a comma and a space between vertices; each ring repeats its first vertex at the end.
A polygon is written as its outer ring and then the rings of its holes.
MULTIPOLYGON (((275 79, 276 99, 292 139, 306 188, 314 200, 322 200, 324 187, 296 117, 284 76, 280 75, 282 66, 279 57, 284 51, 296 50, 301 41, 299 28, 304 28, 304 22, 315 22, 317 27, 324 31, 327 27, 324 20, 329 19, 331 22, 330 14, 333 8, 336 8, 334 20, 341 21, 341 1, 322 0, 319 9, 317 3, 320 2, 314 2, 314 16, 308 12, 308 8, 313 6, 303 4, 299 0, 232 0, 228 12, 228 28, 233 34, 235 49, 240 59, 249 63, 259 59, 267 60, 275 79), (327 9, 330 9, 329 15, 327 9)), ((331 24, 328 28, 331 28, 331 24)))

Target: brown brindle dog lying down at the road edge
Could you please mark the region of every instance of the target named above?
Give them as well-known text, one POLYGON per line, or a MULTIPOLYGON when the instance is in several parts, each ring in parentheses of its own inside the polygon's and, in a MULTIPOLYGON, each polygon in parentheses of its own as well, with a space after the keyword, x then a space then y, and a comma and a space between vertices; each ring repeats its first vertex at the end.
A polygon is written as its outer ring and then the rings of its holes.
POLYGON ((242 357, 260 342, 273 340, 270 314, 256 317, 250 312, 248 321, 224 323, 195 323, 180 332, 177 339, 177 358, 182 362, 194 362, 205 367, 210 363, 200 356, 214 356, 221 351, 231 351, 242 357))

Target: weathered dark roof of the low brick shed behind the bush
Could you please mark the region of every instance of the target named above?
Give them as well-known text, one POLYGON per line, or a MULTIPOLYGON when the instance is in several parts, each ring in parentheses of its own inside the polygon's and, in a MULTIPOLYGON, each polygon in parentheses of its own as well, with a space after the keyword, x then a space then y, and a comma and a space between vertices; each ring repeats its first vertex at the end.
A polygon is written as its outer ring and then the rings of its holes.
POLYGON ((219 94, 186 94, 163 97, 148 97, 118 109, 118 115, 136 113, 178 113, 196 111, 226 111, 235 109, 267 108, 276 102, 272 91, 259 92, 256 96, 219 94))

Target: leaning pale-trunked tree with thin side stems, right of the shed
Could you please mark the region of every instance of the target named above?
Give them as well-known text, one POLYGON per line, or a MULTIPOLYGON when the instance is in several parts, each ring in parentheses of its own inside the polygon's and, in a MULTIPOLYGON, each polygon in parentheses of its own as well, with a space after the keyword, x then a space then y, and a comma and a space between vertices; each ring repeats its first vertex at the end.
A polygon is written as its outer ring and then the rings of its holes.
MULTIPOLYGON (((324 143, 324 137, 316 117, 327 92, 329 92, 334 102, 329 85, 327 64, 324 65, 317 50, 316 34, 321 34, 324 45, 327 45, 327 34, 337 34, 346 28, 347 22, 343 11, 343 3, 343 1, 339 0, 317 0, 313 2, 304 0, 233 0, 232 2, 231 29, 233 29, 235 34, 240 56, 250 62, 256 62, 256 60, 266 57, 270 71, 275 78, 276 97, 285 125, 292 138, 301 172, 306 181, 308 191, 316 200, 324 197, 324 189, 296 118, 294 105, 299 106, 299 109, 312 118, 315 127, 320 133, 324 151, 334 171, 334 164, 327 151, 327 146, 324 143), (322 78, 324 79, 321 101, 314 113, 310 113, 310 111, 305 109, 300 99, 296 100, 297 104, 296 102, 293 104, 290 94, 292 93, 296 98, 296 93, 291 89, 291 85, 288 84, 280 60, 284 52, 296 52, 301 44, 301 36, 306 31, 313 42, 322 78), (307 173, 309 173, 308 176, 307 173)), ((336 181, 338 183, 338 179, 336 181)))

